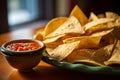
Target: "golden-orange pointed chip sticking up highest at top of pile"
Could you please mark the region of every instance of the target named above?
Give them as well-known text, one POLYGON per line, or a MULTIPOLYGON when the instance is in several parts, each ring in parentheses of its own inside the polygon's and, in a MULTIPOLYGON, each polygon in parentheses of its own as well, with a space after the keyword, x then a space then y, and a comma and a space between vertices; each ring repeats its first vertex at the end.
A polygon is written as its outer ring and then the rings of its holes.
POLYGON ((75 16, 82 26, 85 25, 88 22, 87 17, 83 13, 83 11, 79 8, 78 5, 76 5, 73 8, 73 10, 70 13, 70 16, 75 16))

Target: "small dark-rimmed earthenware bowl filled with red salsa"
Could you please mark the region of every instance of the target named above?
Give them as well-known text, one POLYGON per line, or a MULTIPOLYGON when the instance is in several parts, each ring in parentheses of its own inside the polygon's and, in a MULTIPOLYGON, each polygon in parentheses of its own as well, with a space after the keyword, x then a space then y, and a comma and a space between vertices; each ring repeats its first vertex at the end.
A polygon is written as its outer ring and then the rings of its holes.
POLYGON ((12 67, 27 72, 39 64, 45 45, 39 40, 19 39, 4 43, 0 50, 12 67))

